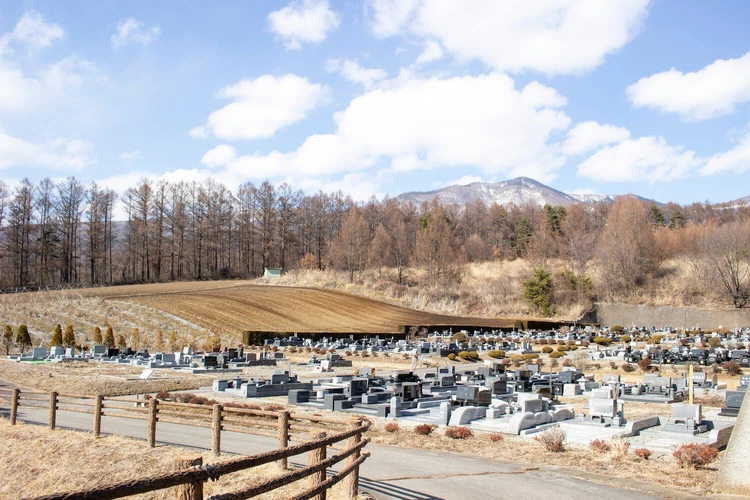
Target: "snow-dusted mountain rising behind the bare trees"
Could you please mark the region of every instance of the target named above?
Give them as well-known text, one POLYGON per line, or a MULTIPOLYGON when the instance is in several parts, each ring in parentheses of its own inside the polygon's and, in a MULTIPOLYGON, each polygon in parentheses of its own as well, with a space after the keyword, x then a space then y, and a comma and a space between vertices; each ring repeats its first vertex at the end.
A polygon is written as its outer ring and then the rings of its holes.
POLYGON ((416 205, 437 198, 443 205, 463 205, 480 200, 487 206, 524 205, 535 203, 539 206, 550 204, 553 207, 568 207, 575 203, 595 203, 599 201, 614 201, 614 196, 600 194, 567 194, 557 189, 545 186, 541 182, 528 177, 517 177, 509 181, 486 183, 474 182, 466 186, 448 186, 443 189, 427 192, 409 192, 396 197, 399 201, 411 201, 416 205))

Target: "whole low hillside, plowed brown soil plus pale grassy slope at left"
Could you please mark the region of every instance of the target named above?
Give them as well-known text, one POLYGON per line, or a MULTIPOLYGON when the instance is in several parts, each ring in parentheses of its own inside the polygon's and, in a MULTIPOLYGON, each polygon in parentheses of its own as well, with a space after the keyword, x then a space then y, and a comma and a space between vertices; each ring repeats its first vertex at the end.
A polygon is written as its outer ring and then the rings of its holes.
POLYGON ((408 309, 333 290, 257 285, 250 281, 178 282, 0 296, 0 319, 27 323, 49 342, 54 325, 73 324, 90 341, 93 328, 113 326, 145 343, 158 330, 203 338, 206 330, 230 342, 241 332, 398 333, 403 325, 510 327, 512 319, 453 317, 408 309))

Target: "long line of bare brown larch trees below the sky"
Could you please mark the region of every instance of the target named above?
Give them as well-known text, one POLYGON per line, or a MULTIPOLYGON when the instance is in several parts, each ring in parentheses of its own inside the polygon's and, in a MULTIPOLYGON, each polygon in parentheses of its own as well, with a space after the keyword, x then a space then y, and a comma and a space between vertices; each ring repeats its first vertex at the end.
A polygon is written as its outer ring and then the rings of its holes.
POLYGON ((461 278, 462 264, 564 263, 573 295, 638 294, 667 259, 684 258, 734 307, 750 302, 750 209, 657 205, 633 196, 564 207, 355 203, 288 184, 141 179, 118 195, 74 177, 14 189, 0 181, 0 288, 253 278, 265 267, 365 269, 399 285, 461 278), (119 212, 118 212, 119 210, 119 212), (125 220, 116 220, 124 213, 125 220), (599 270, 592 285, 591 269, 599 270))

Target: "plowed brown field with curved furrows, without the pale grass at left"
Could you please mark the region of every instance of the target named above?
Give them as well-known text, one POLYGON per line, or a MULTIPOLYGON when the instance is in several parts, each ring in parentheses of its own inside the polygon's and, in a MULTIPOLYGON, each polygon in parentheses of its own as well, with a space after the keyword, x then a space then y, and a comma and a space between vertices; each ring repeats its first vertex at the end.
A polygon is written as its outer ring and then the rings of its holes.
POLYGON ((133 301, 233 334, 245 330, 398 333, 401 325, 513 325, 510 319, 454 318, 331 290, 254 285, 247 281, 117 286, 75 293, 133 301))

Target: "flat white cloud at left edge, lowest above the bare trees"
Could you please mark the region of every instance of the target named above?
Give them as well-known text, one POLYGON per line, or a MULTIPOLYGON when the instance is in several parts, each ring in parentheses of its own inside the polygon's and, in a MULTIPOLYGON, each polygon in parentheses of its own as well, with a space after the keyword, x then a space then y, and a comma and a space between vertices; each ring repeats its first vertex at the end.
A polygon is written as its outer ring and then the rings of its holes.
POLYGON ((81 170, 93 163, 94 147, 86 141, 57 139, 34 144, 0 134, 0 170, 12 167, 48 167, 81 170))

